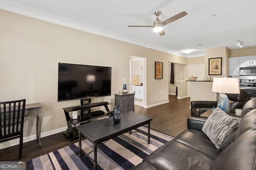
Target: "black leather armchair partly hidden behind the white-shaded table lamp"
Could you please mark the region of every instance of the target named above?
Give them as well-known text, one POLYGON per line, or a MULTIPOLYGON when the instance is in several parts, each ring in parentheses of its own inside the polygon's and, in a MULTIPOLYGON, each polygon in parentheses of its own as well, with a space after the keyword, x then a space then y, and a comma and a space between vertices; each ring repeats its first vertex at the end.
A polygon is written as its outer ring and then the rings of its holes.
MULTIPOLYGON (((230 113, 235 113, 235 109, 242 109, 252 97, 252 94, 248 94, 244 89, 240 89, 240 94, 226 93, 226 95, 230 102, 230 113)), ((202 113, 213 107, 217 107, 217 101, 191 101, 191 116, 200 117, 202 113)))

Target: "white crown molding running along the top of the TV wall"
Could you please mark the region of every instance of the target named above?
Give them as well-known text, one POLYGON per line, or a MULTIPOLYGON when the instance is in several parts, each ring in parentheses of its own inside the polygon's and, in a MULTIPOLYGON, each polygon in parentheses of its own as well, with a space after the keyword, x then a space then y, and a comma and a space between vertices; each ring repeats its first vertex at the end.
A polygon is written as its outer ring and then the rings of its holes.
POLYGON ((84 31, 84 32, 88 32, 88 33, 92 33, 92 34, 96 34, 96 35, 100 35, 103 37, 108 37, 111 39, 116 39, 119 41, 124 41, 127 43, 131 43, 134 45, 139 45, 142 47, 146 47, 149 49, 154 49, 154 50, 158 50, 158 51, 162 51, 162 52, 166 52, 166 53, 170 53, 170 54, 174 54, 174 55, 178 55, 180 57, 185 57, 185 55, 182 55, 181 53, 178 53, 176 51, 172 51, 170 49, 165 49, 162 47, 157 47, 156 45, 150 44, 150 43, 146 43, 143 41, 140 41, 138 39, 131 39, 130 37, 126 37, 124 35, 120 35, 117 33, 113 33, 110 31, 106 31, 97 27, 92 27, 90 25, 86 25, 84 23, 80 23, 77 21, 73 21, 73 20, 69 20, 67 18, 63 18, 60 16, 56 16, 54 14, 50 14, 48 12, 44 12, 41 10, 37 10, 35 8, 31 8, 28 6, 24 6, 22 4, 16 3, 16 2, 10 2, 8 0, 0 0, 0 9, 2 10, 6 10, 6 11, 10 11, 10 12, 14 12, 16 14, 21 14, 24 16, 28 16, 31 18, 36 18, 38 20, 42 20, 42 21, 47 21, 50 23, 55 23, 58 25, 62 25, 65 27, 70 27, 73 29, 77 29, 80 31, 84 31))

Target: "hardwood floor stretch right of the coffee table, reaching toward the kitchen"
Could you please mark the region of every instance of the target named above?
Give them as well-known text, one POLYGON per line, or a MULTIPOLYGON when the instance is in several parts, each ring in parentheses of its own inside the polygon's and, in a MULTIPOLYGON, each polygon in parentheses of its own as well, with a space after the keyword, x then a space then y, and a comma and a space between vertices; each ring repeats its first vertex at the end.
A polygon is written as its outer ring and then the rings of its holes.
POLYGON ((135 105, 135 113, 152 117, 150 128, 172 137, 187 129, 190 117, 190 98, 177 99, 169 95, 169 103, 144 108, 135 105))

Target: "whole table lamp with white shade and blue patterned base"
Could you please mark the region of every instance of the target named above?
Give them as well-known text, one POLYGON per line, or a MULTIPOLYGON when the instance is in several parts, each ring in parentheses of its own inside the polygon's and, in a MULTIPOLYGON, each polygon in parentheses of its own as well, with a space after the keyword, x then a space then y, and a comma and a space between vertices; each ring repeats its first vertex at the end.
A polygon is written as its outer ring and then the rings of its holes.
POLYGON ((224 112, 229 113, 230 103, 225 93, 239 94, 238 78, 219 78, 215 77, 212 83, 212 92, 222 93, 218 100, 217 106, 224 112))

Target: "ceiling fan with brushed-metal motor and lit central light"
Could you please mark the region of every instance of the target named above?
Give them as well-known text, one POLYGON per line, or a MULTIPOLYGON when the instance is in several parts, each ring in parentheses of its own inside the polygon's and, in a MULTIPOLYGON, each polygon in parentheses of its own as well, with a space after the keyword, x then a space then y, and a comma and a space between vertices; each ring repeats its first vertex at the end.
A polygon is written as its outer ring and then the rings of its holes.
POLYGON ((175 16, 172 16, 171 18, 168 18, 165 21, 161 21, 158 16, 161 14, 161 11, 156 11, 154 12, 155 16, 156 16, 156 20, 154 21, 153 25, 128 25, 128 27, 153 27, 153 31, 158 32, 161 36, 165 35, 164 33, 164 25, 167 25, 168 23, 171 23, 173 21, 176 21, 186 15, 188 15, 188 13, 186 13, 185 11, 180 12, 179 14, 176 14, 175 16))

